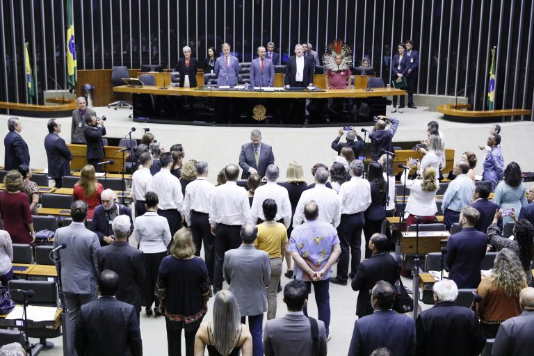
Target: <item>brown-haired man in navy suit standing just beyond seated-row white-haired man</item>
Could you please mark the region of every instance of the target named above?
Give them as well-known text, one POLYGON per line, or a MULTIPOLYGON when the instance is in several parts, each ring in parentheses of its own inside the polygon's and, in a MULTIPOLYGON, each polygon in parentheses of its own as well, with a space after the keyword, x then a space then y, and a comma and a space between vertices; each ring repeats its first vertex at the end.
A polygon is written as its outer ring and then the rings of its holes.
POLYGON ((478 216, 474 207, 463 207, 460 211, 462 231, 447 241, 448 279, 456 282, 458 288, 476 288, 480 283, 480 261, 486 254, 487 236, 474 228, 478 216))

